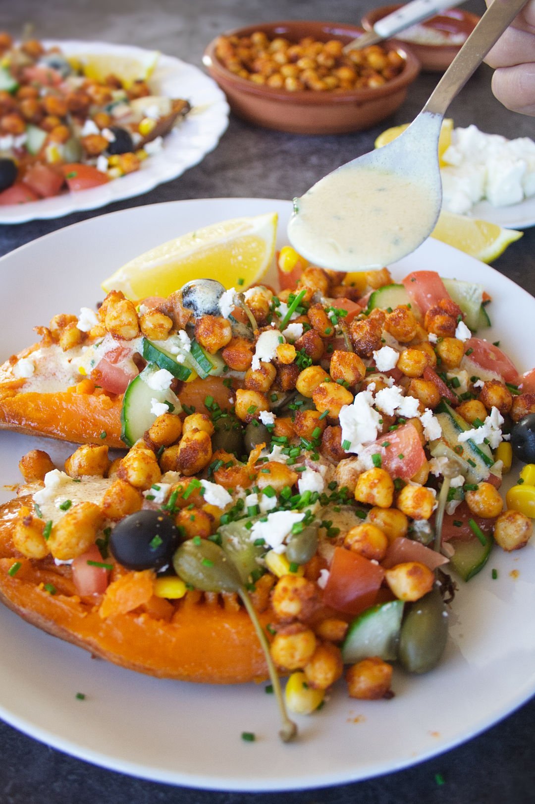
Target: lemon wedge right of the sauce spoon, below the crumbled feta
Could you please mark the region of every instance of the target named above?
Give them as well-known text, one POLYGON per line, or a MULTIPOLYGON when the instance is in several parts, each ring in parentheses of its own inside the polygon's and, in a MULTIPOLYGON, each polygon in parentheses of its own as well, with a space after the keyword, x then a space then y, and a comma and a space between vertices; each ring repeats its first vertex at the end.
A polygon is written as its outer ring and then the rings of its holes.
POLYGON ((443 211, 431 237, 455 246, 459 251, 475 256, 481 262, 492 262, 523 234, 524 232, 517 232, 516 229, 504 229, 498 224, 489 224, 486 220, 443 211))

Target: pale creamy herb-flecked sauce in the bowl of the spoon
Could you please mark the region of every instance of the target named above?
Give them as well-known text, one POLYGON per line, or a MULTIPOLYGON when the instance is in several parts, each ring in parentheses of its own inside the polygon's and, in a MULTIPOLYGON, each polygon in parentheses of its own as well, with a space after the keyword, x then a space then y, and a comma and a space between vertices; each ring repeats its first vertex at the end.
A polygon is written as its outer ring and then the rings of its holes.
POLYGON ((381 268, 414 251, 435 215, 418 178, 348 166, 299 199, 288 235, 298 252, 325 268, 381 268))

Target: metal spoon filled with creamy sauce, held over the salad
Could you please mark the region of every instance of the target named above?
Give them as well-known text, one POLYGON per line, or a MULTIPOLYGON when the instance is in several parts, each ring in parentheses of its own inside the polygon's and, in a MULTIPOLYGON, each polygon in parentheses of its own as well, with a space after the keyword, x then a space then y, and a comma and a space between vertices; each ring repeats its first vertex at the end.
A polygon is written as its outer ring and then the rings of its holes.
POLYGON ((426 240, 442 204, 443 116, 525 2, 494 0, 400 137, 342 165, 294 199, 288 238, 297 252, 324 268, 374 269, 426 240))

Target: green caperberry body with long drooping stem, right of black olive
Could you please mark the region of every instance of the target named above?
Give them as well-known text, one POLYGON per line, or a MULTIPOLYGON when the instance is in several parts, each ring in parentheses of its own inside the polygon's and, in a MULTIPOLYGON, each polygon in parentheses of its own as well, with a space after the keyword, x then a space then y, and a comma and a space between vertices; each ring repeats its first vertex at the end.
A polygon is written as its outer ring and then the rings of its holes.
POLYGON ((188 539, 173 556, 174 571, 186 584, 202 592, 239 592, 239 572, 227 554, 214 542, 188 539))

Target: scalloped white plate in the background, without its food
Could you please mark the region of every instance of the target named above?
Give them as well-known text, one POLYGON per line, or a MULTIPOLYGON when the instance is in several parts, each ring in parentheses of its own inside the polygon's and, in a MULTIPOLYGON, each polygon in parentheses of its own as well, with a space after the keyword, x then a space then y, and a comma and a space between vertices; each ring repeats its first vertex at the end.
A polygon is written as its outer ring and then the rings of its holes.
MULTIPOLYGON (((69 56, 105 53, 143 59, 148 53, 141 47, 108 42, 48 40, 45 45, 58 45, 69 56)), ((71 212, 105 207, 108 203, 147 193, 158 184, 182 175, 214 150, 219 137, 227 129, 229 107, 224 93, 209 76, 193 64, 161 54, 149 79, 149 86, 155 95, 189 100, 193 109, 184 121, 164 137, 162 150, 146 159, 141 170, 91 190, 63 192, 50 199, 0 207, 0 224, 60 218, 71 212)))

